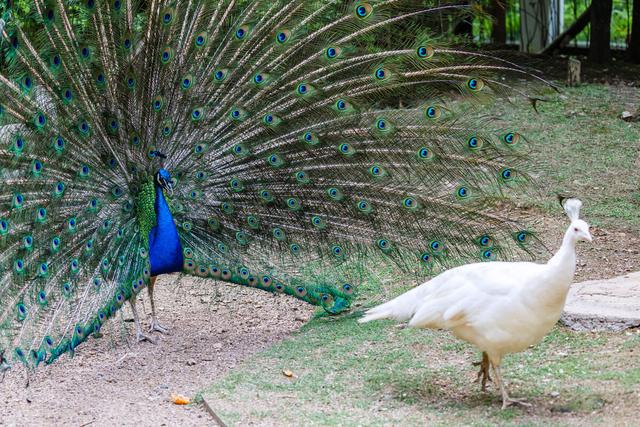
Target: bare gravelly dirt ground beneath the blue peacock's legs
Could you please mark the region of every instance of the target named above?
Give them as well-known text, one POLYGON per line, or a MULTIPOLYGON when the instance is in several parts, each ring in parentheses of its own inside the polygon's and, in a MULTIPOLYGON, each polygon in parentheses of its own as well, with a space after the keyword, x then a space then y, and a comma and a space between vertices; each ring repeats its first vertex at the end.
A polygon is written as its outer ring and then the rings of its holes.
MULTIPOLYGON (((150 313, 141 294, 139 312, 150 313)), ((23 370, 9 371, 0 384, 0 425, 212 425, 202 405, 178 406, 170 395, 194 397, 313 313, 293 298, 175 275, 159 278, 155 294, 171 335, 156 333, 155 345, 137 343, 126 309, 125 322, 109 322, 104 337, 88 341, 73 359, 38 369, 28 388, 23 370)))

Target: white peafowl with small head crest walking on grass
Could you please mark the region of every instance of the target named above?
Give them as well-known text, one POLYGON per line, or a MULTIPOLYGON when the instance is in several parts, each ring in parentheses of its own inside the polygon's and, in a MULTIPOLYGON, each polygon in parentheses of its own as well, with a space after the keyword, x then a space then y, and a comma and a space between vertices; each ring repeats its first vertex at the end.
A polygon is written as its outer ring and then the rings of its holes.
POLYGON ((575 273, 575 245, 591 241, 589 225, 578 218, 580 200, 568 199, 563 206, 571 225, 546 264, 492 262, 453 268, 368 310, 359 321, 408 320, 415 328, 451 330, 482 350, 478 378, 483 377, 483 389, 492 367, 502 407, 524 404, 507 394, 500 375, 502 357, 540 342, 555 325, 575 273))

